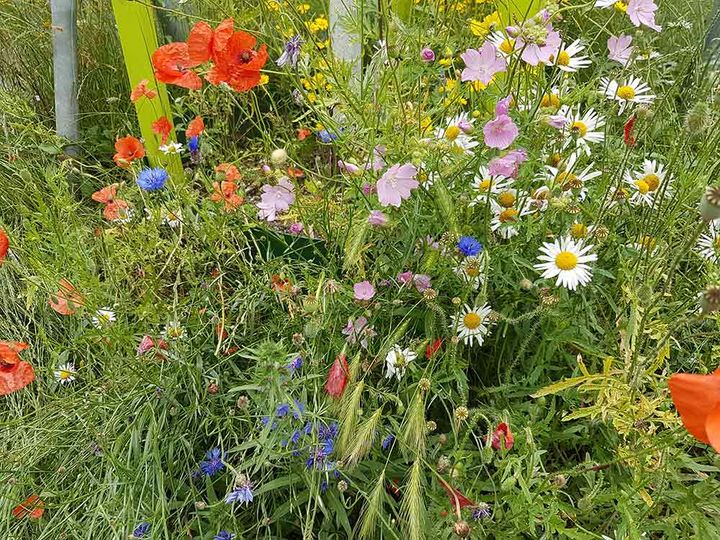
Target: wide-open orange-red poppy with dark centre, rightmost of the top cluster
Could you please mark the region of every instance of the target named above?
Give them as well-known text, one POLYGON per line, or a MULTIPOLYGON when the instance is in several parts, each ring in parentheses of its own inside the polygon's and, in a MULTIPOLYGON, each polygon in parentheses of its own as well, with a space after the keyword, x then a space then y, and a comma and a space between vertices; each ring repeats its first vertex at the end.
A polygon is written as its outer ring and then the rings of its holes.
POLYGON ((236 92, 246 92, 260 83, 260 70, 267 62, 265 45, 254 50, 256 39, 235 32, 222 50, 215 52, 215 65, 207 74, 211 84, 227 83, 236 92))

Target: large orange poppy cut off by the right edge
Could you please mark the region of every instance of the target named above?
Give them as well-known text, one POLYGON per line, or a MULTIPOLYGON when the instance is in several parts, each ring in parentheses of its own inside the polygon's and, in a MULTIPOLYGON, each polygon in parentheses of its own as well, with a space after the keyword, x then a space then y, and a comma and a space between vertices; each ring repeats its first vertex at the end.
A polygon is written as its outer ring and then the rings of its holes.
POLYGON ((710 375, 676 373, 668 386, 685 429, 720 452, 720 369, 710 375))

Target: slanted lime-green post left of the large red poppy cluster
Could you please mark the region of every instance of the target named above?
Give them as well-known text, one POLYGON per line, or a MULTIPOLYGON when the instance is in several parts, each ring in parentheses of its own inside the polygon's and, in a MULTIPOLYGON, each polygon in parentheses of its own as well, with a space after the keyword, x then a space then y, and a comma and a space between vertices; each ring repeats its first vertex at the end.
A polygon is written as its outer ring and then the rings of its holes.
MULTIPOLYGON (((154 99, 141 98, 135 103, 147 157, 153 166, 165 167, 173 178, 180 180, 184 176, 180 156, 161 152, 158 148, 160 137, 152 130, 152 123, 161 116, 173 123, 167 89, 155 80, 152 67, 152 54, 158 48, 155 13, 151 6, 132 0, 112 0, 112 6, 130 88, 148 80, 148 87, 157 92, 154 99)), ((169 140, 177 140, 174 127, 169 140)))

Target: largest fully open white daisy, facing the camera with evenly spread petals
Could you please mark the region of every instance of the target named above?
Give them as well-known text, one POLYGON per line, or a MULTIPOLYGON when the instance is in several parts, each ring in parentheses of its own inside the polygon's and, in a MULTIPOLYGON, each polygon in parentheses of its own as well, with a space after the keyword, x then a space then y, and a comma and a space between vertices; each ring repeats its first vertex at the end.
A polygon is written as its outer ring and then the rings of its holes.
POLYGON ((592 249, 593 246, 586 246, 582 240, 575 241, 569 236, 553 243, 544 242, 538 256, 542 262, 534 266, 542 270, 543 278, 557 277, 556 286, 574 291, 578 285, 590 283, 592 271, 587 263, 597 260, 597 255, 590 253, 592 249))

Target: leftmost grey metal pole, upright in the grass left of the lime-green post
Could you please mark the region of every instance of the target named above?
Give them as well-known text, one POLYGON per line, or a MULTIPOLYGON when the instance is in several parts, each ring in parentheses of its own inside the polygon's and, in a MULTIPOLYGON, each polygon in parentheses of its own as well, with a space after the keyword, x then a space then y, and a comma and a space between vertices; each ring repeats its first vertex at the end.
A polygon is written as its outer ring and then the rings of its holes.
MULTIPOLYGON (((50 0, 55 81, 55 129, 70 141, 78 138, 77 10, 75 0, 50 0)), ((72 149, 71 152, 72 153, 72 149)))

